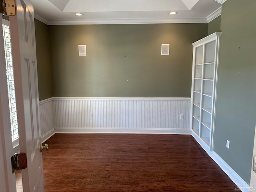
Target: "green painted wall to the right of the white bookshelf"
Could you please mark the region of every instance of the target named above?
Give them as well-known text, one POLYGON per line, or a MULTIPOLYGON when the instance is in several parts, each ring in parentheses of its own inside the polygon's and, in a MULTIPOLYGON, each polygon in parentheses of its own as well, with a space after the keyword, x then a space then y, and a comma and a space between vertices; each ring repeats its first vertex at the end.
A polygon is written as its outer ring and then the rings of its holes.
POLYGON ((250 183, 256 120, 256 1, 222 4, 221 31, 214 151, 250 183))

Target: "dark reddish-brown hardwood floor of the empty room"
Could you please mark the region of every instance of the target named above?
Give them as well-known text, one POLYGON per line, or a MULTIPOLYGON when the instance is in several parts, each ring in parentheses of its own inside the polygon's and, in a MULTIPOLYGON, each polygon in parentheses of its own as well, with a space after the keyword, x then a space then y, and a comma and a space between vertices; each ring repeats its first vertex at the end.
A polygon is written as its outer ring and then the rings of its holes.
POLYGON ((54 134, 45 192, 238 192, 190 135, 54 134))

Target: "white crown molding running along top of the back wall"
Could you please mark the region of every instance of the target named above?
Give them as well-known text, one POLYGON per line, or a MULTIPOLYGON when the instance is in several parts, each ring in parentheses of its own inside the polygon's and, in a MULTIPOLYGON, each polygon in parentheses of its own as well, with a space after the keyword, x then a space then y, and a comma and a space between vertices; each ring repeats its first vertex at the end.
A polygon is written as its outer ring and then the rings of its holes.
POLYGON ((164 24, 164 23, 208 23, 207 18, 145 18, 145 19, 101 19, 101 20, 50 20, 48 25, 93 25, 93 24, 164 24))

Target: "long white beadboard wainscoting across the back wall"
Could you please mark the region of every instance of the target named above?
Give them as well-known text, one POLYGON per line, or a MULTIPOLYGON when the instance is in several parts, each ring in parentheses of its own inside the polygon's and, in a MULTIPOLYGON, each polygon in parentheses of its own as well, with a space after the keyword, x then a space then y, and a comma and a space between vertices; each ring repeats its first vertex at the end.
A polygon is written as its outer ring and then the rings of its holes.
POLYGON ((190 98, 53 98, 55 132, 191 134, 190 102, 190 98))

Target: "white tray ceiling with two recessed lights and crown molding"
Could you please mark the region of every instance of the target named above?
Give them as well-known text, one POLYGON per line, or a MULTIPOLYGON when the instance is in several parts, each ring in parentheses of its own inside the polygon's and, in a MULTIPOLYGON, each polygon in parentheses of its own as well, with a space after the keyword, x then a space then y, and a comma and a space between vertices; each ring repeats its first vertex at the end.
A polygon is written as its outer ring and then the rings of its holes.
POLYGON ((221 14, 216 0, 31 0, 35 18, 53 24, 210 22, 221 14), (170 11, 178 14, 170 15, 170 11), (75 13, 82 13, 76 16, 75 13))

